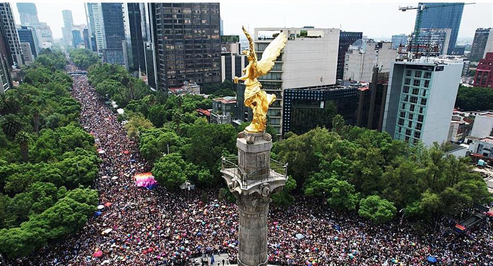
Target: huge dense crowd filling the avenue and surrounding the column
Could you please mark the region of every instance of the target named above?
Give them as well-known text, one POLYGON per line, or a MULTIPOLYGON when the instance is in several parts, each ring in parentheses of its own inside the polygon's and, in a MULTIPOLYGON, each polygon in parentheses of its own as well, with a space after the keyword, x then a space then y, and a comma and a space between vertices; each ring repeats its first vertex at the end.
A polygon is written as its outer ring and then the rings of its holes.
MULTIPOLYGON (((132 177, 149 171, 150 166, 139 156, 136 143, 127 138, 116 114, 105 106, 86 76, 73 76, 72 95, 82 105, 81 125, 104 151, 94 187, 105 207, 78 234, 12 262, 36 266, 194 265, 194 258, 203 254, 227 253, 230 259, 225 264, 235 263, 236 206, 218 200, 213 190, 207 191, 208 201, 201 202, 200 191, 136 187, 132 177), (102 252, 101 256, 95 256, 97 252, 102 252)), ((492 265, 492 223, 458 238, 448 230, 455 222, 442 221, 435 234, 417 233, 405 221, 375 226, 355 213, 337 212, 300 197, 290 208, 271 208, 269 261, 313 266, 427 265, 427 256, 433 255, 442 265, 492 265)), ((223 262, 214 264, 218 263, 223 262)))

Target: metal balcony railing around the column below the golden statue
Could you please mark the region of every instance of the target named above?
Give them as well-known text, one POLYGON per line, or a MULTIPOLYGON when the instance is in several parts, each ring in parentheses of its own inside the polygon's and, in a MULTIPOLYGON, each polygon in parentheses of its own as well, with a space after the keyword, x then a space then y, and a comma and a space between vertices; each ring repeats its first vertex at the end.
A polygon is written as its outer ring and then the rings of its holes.
POLYGON ((260 169, 252 173, 244 173, 236 164, 238 157, 223 157, 221 162, 221 169, 224 172, 230 173, 238 178, 243 188, 256 183, 261 183, 274 179, 286 179, 288 165, 278 162, 271 158, 270 167, 260 169))

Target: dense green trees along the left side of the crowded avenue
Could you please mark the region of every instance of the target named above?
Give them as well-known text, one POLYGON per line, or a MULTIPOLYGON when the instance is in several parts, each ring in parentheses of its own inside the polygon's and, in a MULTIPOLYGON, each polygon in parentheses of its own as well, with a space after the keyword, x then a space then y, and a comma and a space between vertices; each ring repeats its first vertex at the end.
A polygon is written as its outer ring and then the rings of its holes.
POLYGON ((24 83, 0 95, 0 253, 9 258, 76 232, 98 204, 89 186, 99 159, 78 124, 66 64, 45 49, 24 83))

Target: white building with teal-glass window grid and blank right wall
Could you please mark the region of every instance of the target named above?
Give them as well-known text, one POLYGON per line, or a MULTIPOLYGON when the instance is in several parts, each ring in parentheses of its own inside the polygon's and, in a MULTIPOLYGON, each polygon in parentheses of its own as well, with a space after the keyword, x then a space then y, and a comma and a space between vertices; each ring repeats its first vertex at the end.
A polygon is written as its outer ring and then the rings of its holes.
POLYGON ((410 144, 445 142, 462 67, 462 59, 440 57, 394 62, 383 130, 410 144))

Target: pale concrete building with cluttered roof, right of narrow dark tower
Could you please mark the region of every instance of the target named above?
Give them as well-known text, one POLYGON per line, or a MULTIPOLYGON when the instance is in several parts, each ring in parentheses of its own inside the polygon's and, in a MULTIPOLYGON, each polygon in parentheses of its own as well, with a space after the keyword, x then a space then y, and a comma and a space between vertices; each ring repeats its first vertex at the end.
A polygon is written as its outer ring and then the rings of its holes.
POLYGON ((392 49, 391 42, 357 41, 346 52, 343 77, 345 80, 370 82, 374 66, 378 66, 380 72, 390 72, 396 57, 397 50, 392 49))

